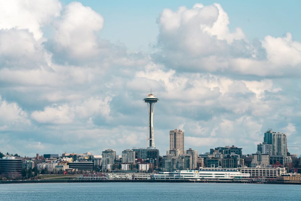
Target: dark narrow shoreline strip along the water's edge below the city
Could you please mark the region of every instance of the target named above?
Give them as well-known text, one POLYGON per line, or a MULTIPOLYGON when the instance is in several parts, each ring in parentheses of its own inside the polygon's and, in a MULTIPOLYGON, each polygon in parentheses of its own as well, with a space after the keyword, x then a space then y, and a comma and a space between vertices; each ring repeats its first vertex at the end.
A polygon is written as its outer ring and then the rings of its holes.
POLYGON ((0 181, 1 184, 34 184, 34 183, 235 183, 235 184, 292 184, 301 185, 301 182, 275 182, 266 181, 264 183, 253 181, 202 181, 202 180, 12 180, 0 181))

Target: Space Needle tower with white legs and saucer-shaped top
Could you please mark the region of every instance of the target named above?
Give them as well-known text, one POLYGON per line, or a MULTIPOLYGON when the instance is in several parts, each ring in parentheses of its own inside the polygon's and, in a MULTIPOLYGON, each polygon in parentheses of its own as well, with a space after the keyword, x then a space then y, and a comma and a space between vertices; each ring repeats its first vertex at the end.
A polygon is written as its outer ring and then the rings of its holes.
MULTIPOLYGON (((145 103, 149 103, 147 104, 147 109, 149 112, 149 135, 147 137, 147 140, 150 140, 150 147, 155 147, 155 140, 154 140, 154 129, 153 129, 153 114, 154 114, 154 107, 155 107, 155 103, 158 102, 158 98, 154 97, 153 94, 151 94, 151 90, 150 90, 150 94, 148 94, 148 97, 143 99, 145 103)), ((147 146, 147 140, 146 140, 146 146, 147 146)))

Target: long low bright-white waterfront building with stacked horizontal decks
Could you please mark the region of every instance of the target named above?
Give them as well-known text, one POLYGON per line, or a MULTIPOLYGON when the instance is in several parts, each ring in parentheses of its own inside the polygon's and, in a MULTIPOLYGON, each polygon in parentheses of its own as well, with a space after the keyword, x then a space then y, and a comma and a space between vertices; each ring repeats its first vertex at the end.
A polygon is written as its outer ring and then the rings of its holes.
POLYGON ((203 168, 200 170, 181 170, 173 172, 160 172, 154 174, 153 179, 157 180, 179 180, 179 179, 242 179, 249 178, 248 173, 241 173, 236 168, 222 169, 222 168, 203 168))

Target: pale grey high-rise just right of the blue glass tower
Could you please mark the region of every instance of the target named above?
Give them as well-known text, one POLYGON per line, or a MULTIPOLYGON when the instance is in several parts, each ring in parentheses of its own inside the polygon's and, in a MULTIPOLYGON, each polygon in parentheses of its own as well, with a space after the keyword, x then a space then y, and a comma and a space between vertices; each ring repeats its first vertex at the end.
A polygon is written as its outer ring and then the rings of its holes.
POLYGON ((286 135, 284 133, 273 133, 272 154, 287 156, 286 135))

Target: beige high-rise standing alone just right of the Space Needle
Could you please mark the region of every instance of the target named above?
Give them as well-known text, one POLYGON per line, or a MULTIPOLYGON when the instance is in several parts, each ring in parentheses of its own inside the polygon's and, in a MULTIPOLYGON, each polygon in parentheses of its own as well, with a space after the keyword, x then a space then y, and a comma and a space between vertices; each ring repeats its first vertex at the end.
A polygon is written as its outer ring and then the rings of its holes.
POLYGON ((179 154, 184 153, 184 131, 169 131, 169 149, 177 149, 179 154))

